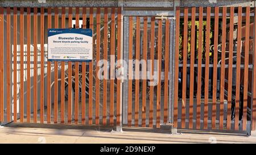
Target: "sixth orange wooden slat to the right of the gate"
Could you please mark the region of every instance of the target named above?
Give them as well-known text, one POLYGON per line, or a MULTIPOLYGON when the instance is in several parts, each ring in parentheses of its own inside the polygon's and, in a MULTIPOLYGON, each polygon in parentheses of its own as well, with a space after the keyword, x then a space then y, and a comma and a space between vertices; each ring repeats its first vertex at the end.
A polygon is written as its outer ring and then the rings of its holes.
POLYGON ((222 9, 221 83, 220 83, 220 129, 224 121, 225 52, 226 52, 226 7, 222 9))

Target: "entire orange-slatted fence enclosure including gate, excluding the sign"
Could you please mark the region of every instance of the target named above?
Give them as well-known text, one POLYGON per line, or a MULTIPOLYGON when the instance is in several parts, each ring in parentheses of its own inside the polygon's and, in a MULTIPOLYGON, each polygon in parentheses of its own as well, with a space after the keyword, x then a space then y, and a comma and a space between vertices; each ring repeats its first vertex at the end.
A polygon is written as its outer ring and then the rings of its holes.
POLYGON ((254 135, 254 6, 1 1, 0 122, 254 135), (48 28, 92 29, 93 60, 48 61, 48 28))

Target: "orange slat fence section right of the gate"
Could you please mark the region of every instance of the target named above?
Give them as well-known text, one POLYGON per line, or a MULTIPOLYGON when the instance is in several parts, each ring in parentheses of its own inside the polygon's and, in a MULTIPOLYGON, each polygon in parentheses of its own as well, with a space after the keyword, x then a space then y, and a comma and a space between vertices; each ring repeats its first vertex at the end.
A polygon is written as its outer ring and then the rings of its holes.
POLYGON ((254 127, 254 18, 249 6, 176 7, 174 127, 254 127))

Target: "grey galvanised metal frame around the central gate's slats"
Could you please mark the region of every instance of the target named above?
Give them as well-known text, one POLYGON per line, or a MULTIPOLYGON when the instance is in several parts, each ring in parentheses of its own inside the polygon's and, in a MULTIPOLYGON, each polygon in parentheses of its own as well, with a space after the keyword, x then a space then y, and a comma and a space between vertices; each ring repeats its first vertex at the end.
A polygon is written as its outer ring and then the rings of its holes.
MULTIPOLYGON (((125 23, 123 24, 123 40, 128 40, 129 39, 129 35, 128 32, 129 32, 129 25, 126 24, 128 23, 128 18, 129 16, 167 16, 167 19, 170 20, 170 44, 169 44, 169 89, 168 89, 168 124, 164 124, 164 125, 170 125, 171 124, 171 127, 172 127, 172 123, 173 123, 173 110, 174 110, 174 104, 173 104, 173 90, 174 88, 172 87, 172 84, 174 83, 174 56, 175 56, 175 10, 168 10, 168 11, 152 11, 152 10, 141 10, 141 11, 138 11, 138 10, 123 10, 122 11, 123 14, 123 22, 122 23, 125 23)), ((123 42, 123 41, 122 41, 123 42)), ((123 42, 123 60, 125 60, 126 62, 128 62, 127 60, 129 60, 128 58, 128 55, 129 55, 129 46, 128 46, 128 43, 127 41, 123 42)), ((127 68, 128 70, 128 68, 127 68)), ((126 73, 128 73, 126 71, 126 73)), ((128 93, 128 80, 126 79, 125 81, 123 81, 123 92, 124 93, 128 93)), ((123 125, 127 125, 127 108, 128 108, 128 97, 127 95, 123 95, 122 96, 123 98, 123 105, 122 105, 122 124, 123 125)))

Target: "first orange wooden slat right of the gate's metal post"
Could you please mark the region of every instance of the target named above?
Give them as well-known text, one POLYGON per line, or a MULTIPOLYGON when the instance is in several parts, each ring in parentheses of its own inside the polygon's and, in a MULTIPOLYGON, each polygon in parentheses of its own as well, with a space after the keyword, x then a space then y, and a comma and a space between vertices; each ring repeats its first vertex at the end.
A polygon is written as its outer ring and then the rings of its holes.
POLYGON ((187 51, 188 51, 188 7, 184 9, 184 39, 183 39, 183 77, 182 77, 182 114, 181 128, 185 128, 185 107, 187 92, 187 51))

